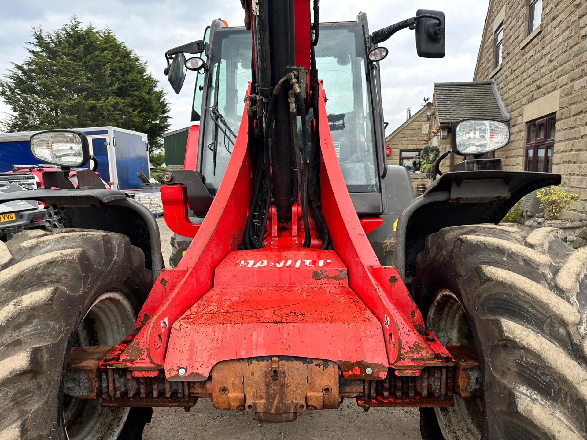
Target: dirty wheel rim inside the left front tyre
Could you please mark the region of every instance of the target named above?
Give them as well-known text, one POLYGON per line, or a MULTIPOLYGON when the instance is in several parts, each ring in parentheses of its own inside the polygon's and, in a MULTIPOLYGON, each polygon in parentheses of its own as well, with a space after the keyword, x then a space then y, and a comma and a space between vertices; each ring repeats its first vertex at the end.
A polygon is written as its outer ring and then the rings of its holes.
MULTIPOLYGON (((100 295, 77 330, 76 346, 116 345, 134 329, 136 314, 129 299, 119 292, 100 295)), ((100 400, 63 396, 63 420, 69 440, 116 440, 129 408, 111 411, 100 400)))

